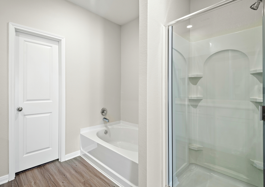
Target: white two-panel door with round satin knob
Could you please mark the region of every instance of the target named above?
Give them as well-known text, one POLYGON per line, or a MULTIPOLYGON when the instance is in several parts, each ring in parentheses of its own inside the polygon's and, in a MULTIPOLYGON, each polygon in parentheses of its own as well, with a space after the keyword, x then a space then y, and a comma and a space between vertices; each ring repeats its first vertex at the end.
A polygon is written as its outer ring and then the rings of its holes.
POLYGON ((16 32, 15 172, 58 159, 59 45, 16 32))

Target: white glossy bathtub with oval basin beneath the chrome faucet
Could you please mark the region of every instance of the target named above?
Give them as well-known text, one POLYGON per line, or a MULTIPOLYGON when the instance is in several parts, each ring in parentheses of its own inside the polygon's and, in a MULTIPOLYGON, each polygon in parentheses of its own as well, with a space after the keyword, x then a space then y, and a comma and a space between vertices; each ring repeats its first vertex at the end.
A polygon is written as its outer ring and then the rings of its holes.
POLYGON ((116 121, 81 129, 80 154, 120 187, 138 186, 138 125, 116 121))

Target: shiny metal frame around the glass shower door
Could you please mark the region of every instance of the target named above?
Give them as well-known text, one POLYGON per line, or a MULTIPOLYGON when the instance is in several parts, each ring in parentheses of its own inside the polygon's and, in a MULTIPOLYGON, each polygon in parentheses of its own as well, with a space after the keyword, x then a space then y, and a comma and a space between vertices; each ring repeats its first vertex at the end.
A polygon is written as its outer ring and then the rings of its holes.
MULTIPOLYGON (((194 12, 192 14, 189 14, 187 16, 184 16, 182 18, 179 18, 175 21, 169 22, 165 25, 165 53, 168 54, 168 56, 165 59, 165 79, 166 79, 166 103, 165 103, 165 112, 168 114, 165 117, 166 122, 166 186, 169 187, 175 187, 173 186, 174 180, 177 180, 177 177, 173 178, 173 137, 175 137, 175 131, 172 130, 172 26, 185 21, 187 19, 190 19, 192 17, 198 16, 200 14, 204 14, 210 11, 213 11, 215 9, 221 8, 223 6, 235 3, 237 1, 241 0, 224 0, 219 3, 216 3, 212 6, 209 6, 207 8, 201 9, 197 12, 194 12), (170 62, 170 63, 169 63, 170 62), (171 74, 169 73, 171 72, 171 74)), ((262 72, 265 72, 265 2, 262 3, 262 72)), ((262 75, 262 90, 263 90, 263 98, 265 98, 265 75, 263 73, 262 75)), ((263 106, 265 106, 265 100, 263 99, 263 106)), ((263 163, 265 163, 265 121, 263 121, 263 163)), ((263 168, 263 186, 265 187, 265 169, 263 168)))

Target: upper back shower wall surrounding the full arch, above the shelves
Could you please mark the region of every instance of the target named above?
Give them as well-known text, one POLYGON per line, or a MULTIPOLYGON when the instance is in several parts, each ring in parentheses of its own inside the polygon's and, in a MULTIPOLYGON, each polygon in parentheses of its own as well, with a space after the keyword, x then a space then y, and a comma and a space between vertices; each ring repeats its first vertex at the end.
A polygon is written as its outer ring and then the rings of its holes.
POLYGON ((190 69, 189 74, 202 74, 207 58, 218 51, 227 49, 245 53, 249 58, 250 70, 262 69, 262 41, 260 38, 253 37, 253 33, 257 33, 258 36, 262 35, 262 27, 191 43, 192 53, 189 58, 193 57, 190 63, 193 68, 190 69))

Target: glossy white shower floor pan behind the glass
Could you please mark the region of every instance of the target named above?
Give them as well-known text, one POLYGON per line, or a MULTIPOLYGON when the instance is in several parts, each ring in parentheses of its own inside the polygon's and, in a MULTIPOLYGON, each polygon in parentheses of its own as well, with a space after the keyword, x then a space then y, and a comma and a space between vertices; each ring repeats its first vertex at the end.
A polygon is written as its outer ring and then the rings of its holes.
POLYGON ((190 164, 177 178, 177 187, 256 187, 197 164, 190 164))

